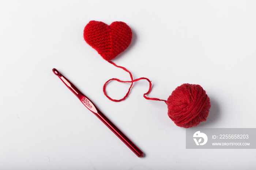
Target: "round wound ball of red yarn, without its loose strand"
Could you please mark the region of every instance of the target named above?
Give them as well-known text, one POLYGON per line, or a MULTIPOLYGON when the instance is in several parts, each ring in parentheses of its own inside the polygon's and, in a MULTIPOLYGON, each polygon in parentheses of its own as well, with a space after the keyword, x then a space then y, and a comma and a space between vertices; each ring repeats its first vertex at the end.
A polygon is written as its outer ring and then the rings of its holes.
POLYGON ((168 116, 177 126, 189 128, 206 121, 211 104, 210 98, 200 85, 182 84, 166 102, 168 116))

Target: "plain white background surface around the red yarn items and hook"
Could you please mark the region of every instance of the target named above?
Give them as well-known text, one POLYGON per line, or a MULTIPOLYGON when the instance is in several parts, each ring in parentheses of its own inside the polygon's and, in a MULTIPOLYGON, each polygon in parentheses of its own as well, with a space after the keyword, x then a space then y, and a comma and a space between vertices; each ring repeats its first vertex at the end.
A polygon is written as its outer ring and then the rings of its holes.
POLYGON ((256 1, 0 1, 0 169, 255 169, 254 149, 186 149, 185 128, 83 39, 90 20, 127 23, 131 45, 112 61, 167 99, 183 83, 211 100, 201 128, 256 128, 256 1), (138 158, 55 76, 69 78, 143 152, 138 158), (128 84, 112 82, 121 98, 128 84))

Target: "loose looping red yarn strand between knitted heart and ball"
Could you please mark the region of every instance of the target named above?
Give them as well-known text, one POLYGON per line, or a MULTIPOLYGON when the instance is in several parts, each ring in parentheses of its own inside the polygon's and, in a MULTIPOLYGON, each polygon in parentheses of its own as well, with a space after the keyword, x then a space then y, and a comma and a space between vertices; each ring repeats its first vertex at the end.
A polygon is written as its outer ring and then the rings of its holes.
POLYGON ((143 94, 143 97, 146 98, 147 100, 164 101, 164 102, 166 103, 166 100, 161 100, 161 99, 159 99, 159 98, 151 98, 151 97, 147 97, 147 96, 146 96, 146 95, 151 91, 151 86, 152 86, 151 81, 150 81, 148 78, 146 78, 146 77, 141 77, 141 78, 137 78, 137 79, 133 80, 132 73, 129 72, 125 67, 117 66, 117 65, 116 65, 115 63, 113 63, 112 61, 108 61, 108 62, 109 62, 110 64, 112 64, 112 65, 118 67, 118 68, 121 68, 121 69, 125 70, 126 72, 128 72, 128 73, 130 74, 130 77, 131 77, 131 81, 123 81, 123 80, 119 80, 118 78, 111 78, 111 79, 109 79, 108 81, 105 82, 105 84, 103 85, 103 93, 105 94, 106 97, 109 98, 109 100, 115 101, 115 102, 123 101, 123 100, 129 95, 129 93, 130 93, 130 91, 131 91, 131 88, 132 88, 132 85, 133 85, 133 82, 136 82, 136 81, 139 81, 139 80, 147 80, 147 81, 149 82, 149 89, 148 89, 148 91, 147 91, 146 93, 143 94), (128 83, 131 83, 131 85, 130 85, 130 87, 129 87, 129 89, 128 89, 128 92, 125 94, 125 96, 124 96, 123 98, 121 98, 121 99, 119 99, 119 100, 116 100, 116 99, 113 99, 113 98, 109 97, 108 94, 106 93, 106 85, 108 84, 108 82, 110 82, 110 81, 112 81, 112 80, 116 80, 116 81, 118 81, 118 82, 128 82, 128 83))

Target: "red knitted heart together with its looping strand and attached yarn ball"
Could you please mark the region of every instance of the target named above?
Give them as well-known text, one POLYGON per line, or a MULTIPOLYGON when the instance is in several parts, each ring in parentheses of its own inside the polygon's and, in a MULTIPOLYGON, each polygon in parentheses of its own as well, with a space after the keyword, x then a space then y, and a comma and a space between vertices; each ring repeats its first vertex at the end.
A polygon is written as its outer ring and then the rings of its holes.
POLYGON ((90 21, 84 28, 84 40, 93 47, 103 59, 112 65, 123 69, 129 73, 131 80, 123 81, 118 78, 111 78, 103 85, 103 93, 109 100, 119 102, 128 97, 132 88, 133 82, 139 80, 147 80, 149 82, 149 89, 143 97, 147 100, 164 101, 168 107, 168 116, 179 127, 189 128, 206 121, 211 104, 210 98, 207 96, 205 90, 200 85, 182 84, 178 86, 167 100, 159 98, 151 98, 146 95, 151 91, 151 81, 148 78, 141 77, 133 79, 131 72, 125 67, 117 66, 114 62, 110 61, 118 54, 123 52, 132 39, 131 28, 124 22, 113 22, 109 26, 103 22, 90 21), (112 99, 106 93, 106 85, 110 81, 129 82, 131 83, 128 92, 119 100, 112 99))

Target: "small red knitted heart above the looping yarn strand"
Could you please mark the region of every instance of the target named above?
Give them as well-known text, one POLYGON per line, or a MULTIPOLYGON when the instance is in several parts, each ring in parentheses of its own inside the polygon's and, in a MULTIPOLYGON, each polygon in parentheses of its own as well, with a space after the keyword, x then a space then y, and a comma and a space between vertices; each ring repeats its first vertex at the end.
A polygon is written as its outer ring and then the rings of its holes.
POLYGON ((109 61, 130 45, 132 30, 124 22, 113 22, 108 26, 99 21, 90 21, 84 27, 84 40, 109 61))

